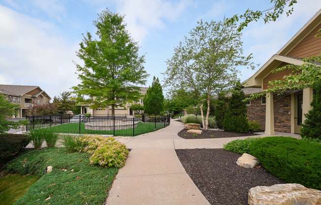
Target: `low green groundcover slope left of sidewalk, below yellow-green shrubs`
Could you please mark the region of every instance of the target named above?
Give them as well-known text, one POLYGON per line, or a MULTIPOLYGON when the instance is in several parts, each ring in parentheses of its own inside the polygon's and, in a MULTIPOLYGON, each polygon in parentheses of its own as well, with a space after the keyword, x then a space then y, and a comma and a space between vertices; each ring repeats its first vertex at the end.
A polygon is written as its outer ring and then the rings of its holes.
POLYGON ((64 148, 24 152, 7 166, 10 172, 41 176, 14 205, 101 205, 118 169, 89 164, 88 153, 64 148), (46 167, 53 171, 45 174, 46 167))

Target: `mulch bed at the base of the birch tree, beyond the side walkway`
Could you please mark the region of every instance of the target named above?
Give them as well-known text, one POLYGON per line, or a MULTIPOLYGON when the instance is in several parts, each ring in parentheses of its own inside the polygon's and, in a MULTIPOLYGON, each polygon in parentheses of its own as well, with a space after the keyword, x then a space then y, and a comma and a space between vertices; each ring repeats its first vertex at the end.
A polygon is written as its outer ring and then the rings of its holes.
POLYGON ((244 137, 244 136, 254 136, 258 134, 231 133, 231 132, 225 132, 221 130, 203 130, 202 134, 195 135, 195 134, 187 133, 187 130, 183 129, 177 135, 185 139, 207 139, 207 138, 225 138, 225 137, 244 137))

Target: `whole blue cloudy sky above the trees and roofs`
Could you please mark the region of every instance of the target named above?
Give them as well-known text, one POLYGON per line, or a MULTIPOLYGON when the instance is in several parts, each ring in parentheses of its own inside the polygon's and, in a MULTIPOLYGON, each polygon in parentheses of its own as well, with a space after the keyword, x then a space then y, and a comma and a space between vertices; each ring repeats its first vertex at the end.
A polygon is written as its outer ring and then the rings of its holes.
MULTIPOLYGON (((270 0, 0 0, 0 84, 38 85, 51 97, 78 82, 72 61, 82 34, 105 8, 126 15, 128 31, 146 55, 145 68, 162 79, 174 46, 203 20, 222 20, 247 8, 266 9, 270 0)), ((243 32, 244 50, 262 65, 319 9, 321 0, 298 0, 290 17, 243 32)), ((257 67, 256 69, 258 69, 257 67)), ((241 80, 254 70, 241 69, 241 80)))

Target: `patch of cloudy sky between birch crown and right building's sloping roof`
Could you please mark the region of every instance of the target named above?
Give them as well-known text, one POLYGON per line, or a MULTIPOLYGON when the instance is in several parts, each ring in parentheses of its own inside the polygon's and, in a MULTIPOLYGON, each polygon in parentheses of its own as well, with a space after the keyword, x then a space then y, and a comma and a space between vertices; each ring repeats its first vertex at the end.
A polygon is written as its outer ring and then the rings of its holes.
MULTIPOLYGON (((264 24, 252 22, 244 29, 243 41, 246 53, 253 53, 254 61, 262 66, 272 55, 321 8, 320 0, 298 1, 290 16, 285 14, 275 22, 264 24)), ((259 67, 258 67, 259 68, 259 67)), ((258 69, 257 68, 257 69, 258 69)), ((242 80, 250 77, 254 71, 242 69, 242 80)))

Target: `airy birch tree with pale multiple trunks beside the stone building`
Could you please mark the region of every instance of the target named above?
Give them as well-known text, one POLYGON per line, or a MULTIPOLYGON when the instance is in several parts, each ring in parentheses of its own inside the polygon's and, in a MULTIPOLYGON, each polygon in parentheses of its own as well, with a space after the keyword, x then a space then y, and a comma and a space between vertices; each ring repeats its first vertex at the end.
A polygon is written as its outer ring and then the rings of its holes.
POLYGON ((196 94, 206 130, 213 95, 236 83, 239 66, 254 68, 251 58, 251 54, 243 55, 241 33, 236 31, 235 23, 199 21, 174 48, 173 56, 167 61, 165 84, 196 94), (202 100, 207 103, 206 117, 202 100))

